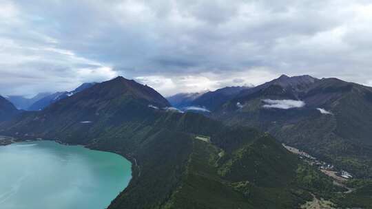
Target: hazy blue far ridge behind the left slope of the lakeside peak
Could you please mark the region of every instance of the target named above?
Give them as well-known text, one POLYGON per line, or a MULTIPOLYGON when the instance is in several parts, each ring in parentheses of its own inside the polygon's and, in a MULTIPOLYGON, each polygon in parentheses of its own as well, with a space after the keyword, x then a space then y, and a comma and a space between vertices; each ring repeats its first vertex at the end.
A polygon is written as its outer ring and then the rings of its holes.
POLYGON ((83 83, 82 85, 74 89, 74 91, 62 91, 62 92, 56 92, 54 94, 49 94, 48 96, 40 98, 39 100, 31 104, 30 107, 28 107, 28 110, 40 111, 56 101, 59 101, 63 98, 68 98, 69 96, 72 96, 78 93, 79 91, 83 91, 84 89, 92 87, 95 84, 96 83, 83 83))

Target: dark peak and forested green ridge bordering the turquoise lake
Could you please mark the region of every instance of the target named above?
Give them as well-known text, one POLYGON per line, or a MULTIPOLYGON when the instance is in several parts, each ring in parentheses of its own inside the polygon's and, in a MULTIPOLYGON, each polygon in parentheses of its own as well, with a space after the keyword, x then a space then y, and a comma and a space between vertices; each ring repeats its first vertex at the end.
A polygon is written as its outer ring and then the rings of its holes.
POLYGON ((1 124, 0 135, 111 151, 132 162, 116 208, 300 208, 338 194, 329 177, 270 135, 169 109, 154 89, 122 77, 1 124), (329 196, 327 196, 329 197, 329 196))

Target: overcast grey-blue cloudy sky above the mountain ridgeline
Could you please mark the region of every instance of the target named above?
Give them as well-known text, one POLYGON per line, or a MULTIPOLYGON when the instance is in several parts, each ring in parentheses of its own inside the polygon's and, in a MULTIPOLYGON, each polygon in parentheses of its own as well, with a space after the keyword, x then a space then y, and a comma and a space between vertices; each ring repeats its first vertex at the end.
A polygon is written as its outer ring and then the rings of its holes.
POLYGON ((119 75, 165 96, 280 74, 372 85, 370 2, 0 0, 0 94, 119 75))

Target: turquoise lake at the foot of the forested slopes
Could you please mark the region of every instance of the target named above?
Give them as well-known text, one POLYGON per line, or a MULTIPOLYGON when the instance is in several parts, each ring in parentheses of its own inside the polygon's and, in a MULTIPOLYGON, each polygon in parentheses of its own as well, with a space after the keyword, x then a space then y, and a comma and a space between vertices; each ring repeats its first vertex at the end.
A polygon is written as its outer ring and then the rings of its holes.
POLYGON ((0 146, 0 208, 103 209, 132 177, 114 153, 52 141, 0 146))

